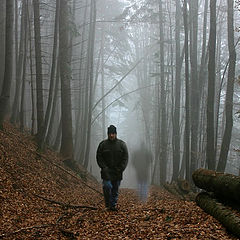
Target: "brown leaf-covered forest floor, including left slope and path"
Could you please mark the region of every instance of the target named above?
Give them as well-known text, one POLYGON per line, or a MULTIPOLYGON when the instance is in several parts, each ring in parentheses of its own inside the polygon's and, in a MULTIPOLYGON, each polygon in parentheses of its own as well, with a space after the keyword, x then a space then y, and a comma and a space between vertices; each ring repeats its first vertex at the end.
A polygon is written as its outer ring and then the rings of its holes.
POLYGON ((147 202, 120 189, 118 212, 101 185, 10 124, 0 131, 0 239, 237 239, 201 210, 152 186, 147 202))

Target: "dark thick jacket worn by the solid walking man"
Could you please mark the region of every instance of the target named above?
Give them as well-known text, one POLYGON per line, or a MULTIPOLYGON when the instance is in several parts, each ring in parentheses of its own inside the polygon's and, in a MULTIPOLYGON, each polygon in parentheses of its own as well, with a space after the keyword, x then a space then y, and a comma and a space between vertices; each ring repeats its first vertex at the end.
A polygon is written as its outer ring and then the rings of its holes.
POLYGON ((128 163, 128 150, 120 139, 103 140, 97 149, 97 163, 104 180, 122 180, 122 173, 128 163))

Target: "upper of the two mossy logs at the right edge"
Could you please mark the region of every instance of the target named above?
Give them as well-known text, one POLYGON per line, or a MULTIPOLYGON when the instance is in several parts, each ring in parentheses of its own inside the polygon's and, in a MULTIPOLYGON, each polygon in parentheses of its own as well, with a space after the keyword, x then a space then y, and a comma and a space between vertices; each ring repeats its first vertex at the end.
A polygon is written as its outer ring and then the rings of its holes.
POLYGON ((193 172, 192 178, 197 187, 240 203, 240 177, 200 168, 193 172))

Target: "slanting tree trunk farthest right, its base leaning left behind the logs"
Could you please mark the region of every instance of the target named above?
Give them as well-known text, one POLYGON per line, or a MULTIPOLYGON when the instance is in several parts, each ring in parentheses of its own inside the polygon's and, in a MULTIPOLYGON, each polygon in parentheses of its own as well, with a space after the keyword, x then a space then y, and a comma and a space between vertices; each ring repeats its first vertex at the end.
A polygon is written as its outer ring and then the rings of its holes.
POLYGON ((221 152, 217 171, 225 171, 227 164, 227 156, 229 151, 229 145, 232 136, 233 126, 233 90, 235 80, 235 65, 236 65, 236 50, 234 46, 234 28, 233 28, 233 0, 228 0, 228 51, 229 51, 229 69, 228 69, 228 81, 227 81, 227 93, 225 101, 226 111, 226 126, 223 135, 221 152))

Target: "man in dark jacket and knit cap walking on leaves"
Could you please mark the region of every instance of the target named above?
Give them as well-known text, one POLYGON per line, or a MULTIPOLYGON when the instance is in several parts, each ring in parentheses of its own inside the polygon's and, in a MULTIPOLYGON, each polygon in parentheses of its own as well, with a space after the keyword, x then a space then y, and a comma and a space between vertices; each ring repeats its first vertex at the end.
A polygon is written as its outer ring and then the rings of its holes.
POLYGON ((128 163, 128 150, 124 141, 117 138, 114 125, 108 127, 108 138, 100 142, 97 149, 97 163, 101 168, 105 206, 117 211, 118 190, 122 174, 128 163))

